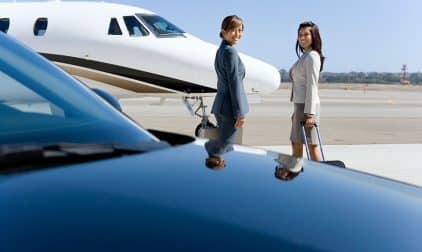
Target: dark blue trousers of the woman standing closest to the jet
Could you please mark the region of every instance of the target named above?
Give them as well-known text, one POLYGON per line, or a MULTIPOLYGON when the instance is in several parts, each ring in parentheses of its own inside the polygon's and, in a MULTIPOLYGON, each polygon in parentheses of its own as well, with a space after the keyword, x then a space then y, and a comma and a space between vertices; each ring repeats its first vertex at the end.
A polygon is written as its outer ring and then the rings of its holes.
POLYGON ((209 140, 205 143, 205 149, 210 157, 221 157, 224 153, 233 150, 233 144, 238 134, 234 127, 235 119, 223 115, 215 115, 217 120, 219 137, 217 140, 209 140))

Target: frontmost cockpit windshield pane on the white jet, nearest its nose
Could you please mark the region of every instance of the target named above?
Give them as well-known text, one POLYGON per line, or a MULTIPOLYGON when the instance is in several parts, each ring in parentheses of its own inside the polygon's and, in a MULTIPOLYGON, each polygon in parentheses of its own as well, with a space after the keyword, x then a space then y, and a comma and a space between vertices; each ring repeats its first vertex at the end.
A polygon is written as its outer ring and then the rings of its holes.
POLYGON ((157 37, 184 36, 184 31, 157 15, 136 14, 157 37))

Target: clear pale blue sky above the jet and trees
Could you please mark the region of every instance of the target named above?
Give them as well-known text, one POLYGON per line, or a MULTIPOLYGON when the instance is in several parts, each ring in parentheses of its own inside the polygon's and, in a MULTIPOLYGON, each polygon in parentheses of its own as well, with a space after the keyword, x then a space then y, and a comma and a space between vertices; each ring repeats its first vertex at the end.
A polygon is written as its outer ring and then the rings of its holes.
POLYGON ((421 0, 106 0, 158 13, 186 32, 219 44, 223 17, 245 22, 238 50, 289 69, 296 60, 296 29, 320 27, 329 72, 422 71, 421 0))

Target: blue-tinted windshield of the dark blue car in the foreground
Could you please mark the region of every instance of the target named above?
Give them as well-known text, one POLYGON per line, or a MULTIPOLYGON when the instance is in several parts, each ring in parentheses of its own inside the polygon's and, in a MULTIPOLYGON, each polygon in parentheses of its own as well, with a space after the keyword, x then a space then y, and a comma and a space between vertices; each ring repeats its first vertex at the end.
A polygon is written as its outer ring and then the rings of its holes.
POLYGON ((0 144, 157 141, 88 87, 0 34, 0 144))

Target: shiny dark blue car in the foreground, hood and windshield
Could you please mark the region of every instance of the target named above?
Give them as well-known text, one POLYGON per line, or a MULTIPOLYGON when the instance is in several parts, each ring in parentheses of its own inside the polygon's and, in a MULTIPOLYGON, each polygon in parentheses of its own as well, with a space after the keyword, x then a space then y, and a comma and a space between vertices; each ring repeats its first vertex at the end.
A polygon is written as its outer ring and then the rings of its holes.
POLYGON ((422 251, 421 188, 240 146, 210 169, 116 107, 0 33, 1 252, 422 251))

